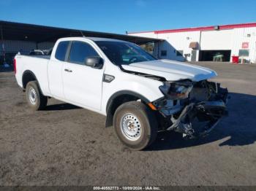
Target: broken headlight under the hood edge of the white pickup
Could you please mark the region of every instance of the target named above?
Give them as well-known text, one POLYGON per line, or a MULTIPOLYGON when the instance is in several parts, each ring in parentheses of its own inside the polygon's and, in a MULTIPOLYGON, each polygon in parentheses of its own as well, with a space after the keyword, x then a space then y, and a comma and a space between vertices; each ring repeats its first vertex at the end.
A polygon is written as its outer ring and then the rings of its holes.
POLYGON ((170 99, 185 99, 188 98, 189 92, 192 90, 192 82, 164 82, 159 89, 167 98, 170 99))

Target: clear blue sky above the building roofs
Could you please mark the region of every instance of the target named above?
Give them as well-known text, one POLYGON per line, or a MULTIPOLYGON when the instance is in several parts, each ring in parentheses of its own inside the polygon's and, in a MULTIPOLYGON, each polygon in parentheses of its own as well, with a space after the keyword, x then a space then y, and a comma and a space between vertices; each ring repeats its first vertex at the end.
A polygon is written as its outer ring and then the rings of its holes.
POLYGON ((256 23, 255 0, 0 0, 0 20, 124 34, 256 23))

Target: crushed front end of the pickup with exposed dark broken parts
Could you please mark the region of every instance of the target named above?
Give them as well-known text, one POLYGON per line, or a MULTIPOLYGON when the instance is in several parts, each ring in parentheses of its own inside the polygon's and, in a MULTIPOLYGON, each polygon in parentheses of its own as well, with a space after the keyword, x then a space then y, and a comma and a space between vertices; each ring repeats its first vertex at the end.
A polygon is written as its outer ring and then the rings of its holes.
POLYGON ((181 80, 159 87, 165 98, 154 101, 162 130, 175 130, 189 139, 206 136, 227 115, 227 88, 219 83, 181 80))

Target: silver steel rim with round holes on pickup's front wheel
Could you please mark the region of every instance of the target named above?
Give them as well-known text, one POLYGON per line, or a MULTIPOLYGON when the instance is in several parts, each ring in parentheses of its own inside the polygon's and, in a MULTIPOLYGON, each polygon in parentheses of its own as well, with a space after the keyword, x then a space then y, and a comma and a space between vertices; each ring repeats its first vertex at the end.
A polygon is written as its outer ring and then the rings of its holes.
POLYGON ((121 133, 129 141, 137 141, 140 139, 142 128, 140 120, 134 114, 124 114, 124 116, 121 117, 120 126, 121 133))

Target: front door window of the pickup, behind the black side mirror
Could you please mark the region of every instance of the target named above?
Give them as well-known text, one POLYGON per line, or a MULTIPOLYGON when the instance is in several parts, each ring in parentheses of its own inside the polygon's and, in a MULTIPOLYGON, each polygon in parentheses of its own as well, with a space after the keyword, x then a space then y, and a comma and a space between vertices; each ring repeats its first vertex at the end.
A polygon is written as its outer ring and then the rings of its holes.
POLYGON ((70 53, 69 53, 69 62, 77 63, 80 65, 85 65, 85 60, 89 56, 99 56, 96 50, 91 47, 90 44, 86 42, 74 41, 72 42, 70 53))

